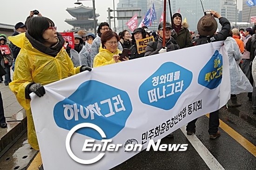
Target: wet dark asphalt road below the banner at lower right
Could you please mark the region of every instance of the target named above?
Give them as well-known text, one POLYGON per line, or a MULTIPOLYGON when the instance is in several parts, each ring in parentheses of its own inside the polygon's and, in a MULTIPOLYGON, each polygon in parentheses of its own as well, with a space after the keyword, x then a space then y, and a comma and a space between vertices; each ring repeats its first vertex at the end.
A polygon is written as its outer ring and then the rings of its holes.
MULTIPOLYGON (((252 113, 252 102, 247 94, 238 94, 241 107, 222 107, 219 118, 243 138, 256 147, 256 115, 252 113)), ((230 101, 229 101, 230 102, 230 101)), ((229 103, 230 104, 230 103, 229 103)), ((220 129, 221 136, 210 140, 209 118, 200 117, 196 122, 195 136, 216 158, 225 170, 256 170, 256 150, 254 155, 231 137, 226 129, 220 129)), ((189 144, 187 151, 141 151, 139 154, 116 166, 113 170, 209 170, 200 154, 191 145, 180 129, 174 132, 174 139, 163 138, 161 144, 189 144)), ((211 168, 214 170, 214 168, 211 168)), ((217 169, 218 170, 218 169, 217 169)))

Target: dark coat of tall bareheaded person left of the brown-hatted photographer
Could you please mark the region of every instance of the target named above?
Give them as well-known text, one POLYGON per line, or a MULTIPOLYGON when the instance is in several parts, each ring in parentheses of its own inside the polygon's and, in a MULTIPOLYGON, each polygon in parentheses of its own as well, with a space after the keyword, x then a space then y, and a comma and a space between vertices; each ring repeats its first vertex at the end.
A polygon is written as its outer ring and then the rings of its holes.
POLYGON ((179 47, 182 48, 187 48, 191 47, 191 34, 187 28, 182 28, 177 35, 175 35, 174 39, 177 41, 179 47))

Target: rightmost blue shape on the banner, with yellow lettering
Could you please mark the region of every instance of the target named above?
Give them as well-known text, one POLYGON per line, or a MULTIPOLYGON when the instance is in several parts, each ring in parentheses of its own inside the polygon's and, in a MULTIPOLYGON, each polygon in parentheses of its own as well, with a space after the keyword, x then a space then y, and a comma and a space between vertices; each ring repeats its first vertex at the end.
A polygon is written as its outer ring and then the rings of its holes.
POLYGON ((216 50, 208 63, 202 68, 198 76, 198 84, 214 89, 222 82, 222 55, 216 50))

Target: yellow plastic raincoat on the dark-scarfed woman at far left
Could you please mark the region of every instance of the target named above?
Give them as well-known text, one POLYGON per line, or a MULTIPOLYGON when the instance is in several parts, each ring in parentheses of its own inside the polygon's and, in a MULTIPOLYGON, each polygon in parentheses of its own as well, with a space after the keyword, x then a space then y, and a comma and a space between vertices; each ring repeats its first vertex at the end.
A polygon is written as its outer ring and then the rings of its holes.
POLYGON ((52 57, 35 49, 25 37, 25 33, 8 37, 8 39, 14 45, 21 48, 16 58, 13 81, 9 83, 9 87, 16 95, 20 105, 26 110, 28 143, 34 149, 39 150, 30 109, 30 100, 25 98, 25 88, 31 82, 47 85, 80 73, 80 67, 74 68, 71 59, 63 47, 56 57, 52 57))

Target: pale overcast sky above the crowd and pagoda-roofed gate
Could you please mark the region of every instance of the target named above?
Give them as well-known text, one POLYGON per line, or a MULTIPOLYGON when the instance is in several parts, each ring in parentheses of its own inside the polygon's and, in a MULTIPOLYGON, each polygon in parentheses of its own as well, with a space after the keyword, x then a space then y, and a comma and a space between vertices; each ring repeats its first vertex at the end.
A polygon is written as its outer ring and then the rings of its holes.
MULTIPOLYGON (((3 1, 3 0, 2 0, 3 1)), ((64 22, 65 19, 73 17, 67 13, 67 7, 75 7, 76 0, 4 0, 1 7, 0 23, 15 25, 18 22, 25 22, 31 10, 37 9, 43 16, 52 19, 58 28, 63 31, 72 28, 64 22)), ((84 6, 92 7, 92 0, 81 0, 84 6)), ((119 0, 115 0, 115 8, 119 0)), ((242 10, 243 0, 237 0, 239 10, 242 10)), ((98 22, 107 21, 108 7, 113 9, 113 0, 95 0, 96 13, 100 14, 98 22)), ((113 15, 113 13, 112 13, 113 15)), ((117 22, 116 22, 117 23, 117 22)))

